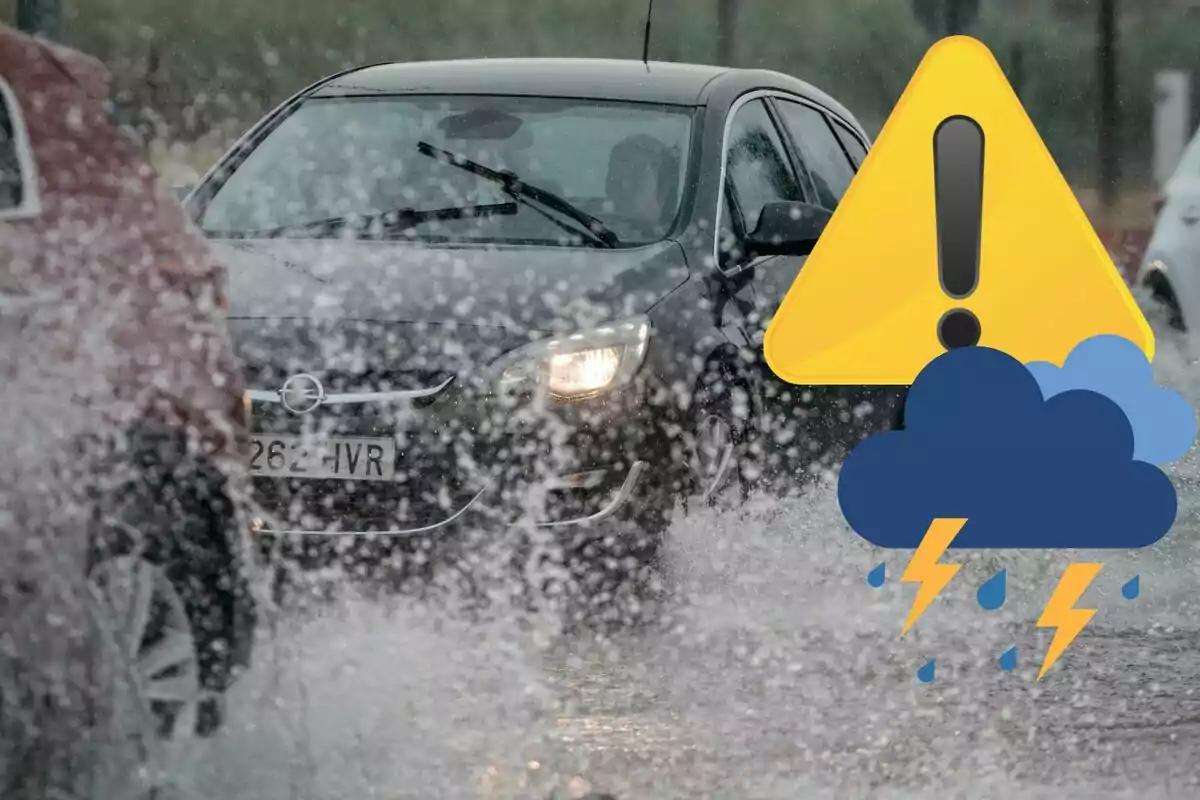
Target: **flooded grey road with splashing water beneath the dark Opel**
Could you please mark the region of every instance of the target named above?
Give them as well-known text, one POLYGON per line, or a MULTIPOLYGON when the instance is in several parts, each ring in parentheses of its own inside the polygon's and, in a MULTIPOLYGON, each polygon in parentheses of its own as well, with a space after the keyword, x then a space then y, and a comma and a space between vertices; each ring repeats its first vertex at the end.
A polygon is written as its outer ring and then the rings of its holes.
MULTIPOLYGON (((1183 389, 1193 369, 1160 357, 1183 389)), ((344 597, 281 619, 181 796, 787 799, 1200 796, 1195 455, 1176 529, 1134 553, 958 554, 908 636, 907 554, 830 489, 679 519, 662 625, 598 640, 344 597), (1036 681, 1034 621, 1070 561, 1099 613, 1036 681), (872 588, 878 564, 887 576, 872 588), (976 590, 1007 571, 1008 601, 976 590), (1121 587, 1138 577, 1140 595, 1121 587), (1016 648, 1016 666, 997 660, 1016 648), (935 660, 931 682, 917 670, 935 660)))

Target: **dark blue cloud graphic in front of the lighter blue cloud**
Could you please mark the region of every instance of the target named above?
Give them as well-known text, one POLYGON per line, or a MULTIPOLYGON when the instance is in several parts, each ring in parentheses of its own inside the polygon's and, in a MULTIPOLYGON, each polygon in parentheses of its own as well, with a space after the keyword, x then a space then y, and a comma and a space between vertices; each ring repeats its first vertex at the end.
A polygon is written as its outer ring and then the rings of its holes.
POLYGON ((881 547, 912 548, 936 517, 967 524, 953 547, 1135 548, 1170 530, 1175 487, 1134 461, 1129 420, 1108 397, 1044 399, 1020 361, 952 350, 917 377, 905 429, 859 444, 838 499, 881 547))

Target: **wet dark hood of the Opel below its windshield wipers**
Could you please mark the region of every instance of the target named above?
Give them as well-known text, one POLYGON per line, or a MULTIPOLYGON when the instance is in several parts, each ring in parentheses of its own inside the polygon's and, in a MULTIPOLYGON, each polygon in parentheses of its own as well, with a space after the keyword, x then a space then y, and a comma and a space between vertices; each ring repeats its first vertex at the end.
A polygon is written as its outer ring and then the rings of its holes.
POLYGON ((647 311, 686 279, 671 241, 630 249, 215 242, 229 317, 568 331, 647 311))

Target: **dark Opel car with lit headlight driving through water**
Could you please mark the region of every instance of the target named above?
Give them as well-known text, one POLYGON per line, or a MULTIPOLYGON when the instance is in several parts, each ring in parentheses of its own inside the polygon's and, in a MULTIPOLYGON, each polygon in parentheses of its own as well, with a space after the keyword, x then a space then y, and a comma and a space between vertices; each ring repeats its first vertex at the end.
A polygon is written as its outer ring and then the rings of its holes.
POLYGON ((424 569, 503 528, 556 591, 649 596, 680 498, 803 482, 900 421, 904 387, 762 354, 868 148, 760 70, 467 59, 298 92, 186 200, 229 264, 264 553, 424 569))

